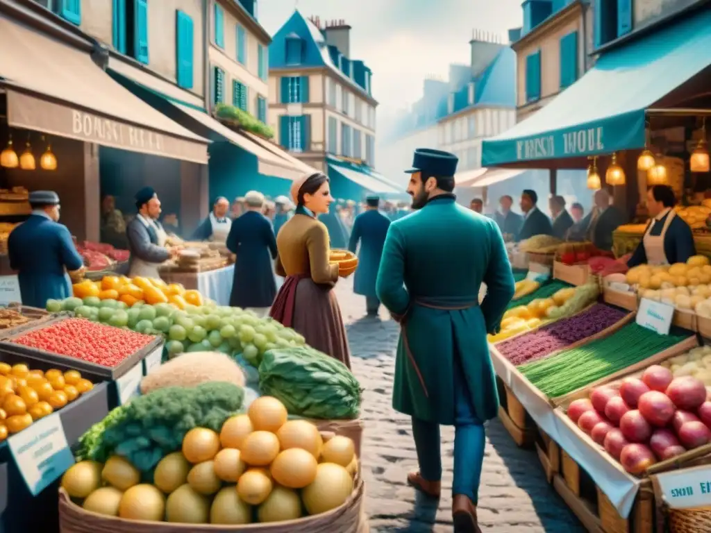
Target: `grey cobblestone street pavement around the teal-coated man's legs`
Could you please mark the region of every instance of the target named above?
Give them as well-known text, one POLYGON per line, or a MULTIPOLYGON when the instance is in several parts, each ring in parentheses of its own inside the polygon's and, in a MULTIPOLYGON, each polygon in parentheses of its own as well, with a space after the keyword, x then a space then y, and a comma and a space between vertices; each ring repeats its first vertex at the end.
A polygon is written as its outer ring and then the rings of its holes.
MULTIPOLYGON (((365 298, 353 294, 351 279, 336 293, 351 344, 353 372, 363 394, 362 463, 366 511, 373 532, 451 532, 452 445, 454 429, 442 428, 442 499, 423 498, 405 482, 417 469, 410 419, 392 409, 392 379, 399 329, 381 308, 380 318, 365 318, 365 298)), ((479 490, 483 532, 577 533, 585 529, 546 483, 535 451, 518 448, 501 422, 486 428, 479 490)))

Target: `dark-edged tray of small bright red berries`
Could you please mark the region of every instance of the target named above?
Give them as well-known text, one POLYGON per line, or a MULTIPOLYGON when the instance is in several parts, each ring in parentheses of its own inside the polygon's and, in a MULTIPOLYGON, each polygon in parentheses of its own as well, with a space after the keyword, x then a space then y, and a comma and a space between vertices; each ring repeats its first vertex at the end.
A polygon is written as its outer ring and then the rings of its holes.
POLYGON ((162 343, 161 337, 60 316, 0 340, 0 352, 115 380, 162 343))

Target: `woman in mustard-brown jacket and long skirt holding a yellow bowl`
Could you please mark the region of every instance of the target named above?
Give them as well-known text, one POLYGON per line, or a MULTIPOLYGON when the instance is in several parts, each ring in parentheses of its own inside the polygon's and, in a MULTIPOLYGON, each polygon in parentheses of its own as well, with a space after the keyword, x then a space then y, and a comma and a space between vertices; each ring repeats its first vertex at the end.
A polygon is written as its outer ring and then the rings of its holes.
POLYGON ((317 172, 294 181, 292 200, 294 216, 277 236, 275 270, 286 279, 269 315, 304 335, 311 347, 351 368, 346 328, 332 290, 338 264, 328 261, 328 230, 316 219, 333 203, 328 177, 317 172))

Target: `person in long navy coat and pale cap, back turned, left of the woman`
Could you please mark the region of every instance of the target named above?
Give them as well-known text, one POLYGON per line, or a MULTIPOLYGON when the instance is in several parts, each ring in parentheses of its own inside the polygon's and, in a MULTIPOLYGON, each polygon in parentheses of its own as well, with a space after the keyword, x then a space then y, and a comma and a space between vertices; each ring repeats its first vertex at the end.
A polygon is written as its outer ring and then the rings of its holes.
POLYGON ((232 279, 230 306, 251 309, 264 316, 277 294, 272 260, 277 257, 277 239, 272 222, 262 215, 264 195, 250 190, 245 195, 245 212, 235 220, 227 236, 227 247, 237 256, 232 279))

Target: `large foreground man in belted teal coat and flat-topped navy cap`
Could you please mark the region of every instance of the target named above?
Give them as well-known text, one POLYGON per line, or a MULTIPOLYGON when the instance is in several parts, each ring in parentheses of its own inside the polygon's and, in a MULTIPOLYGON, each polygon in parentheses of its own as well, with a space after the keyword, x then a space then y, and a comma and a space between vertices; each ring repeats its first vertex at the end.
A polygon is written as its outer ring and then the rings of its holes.
POLYGON ((514 283, 496 222, 456 203, 457 161, 415 151, 407 192, 417 212, 387 230, 375 290, 401 327, 392 407, 412 416, 419 463, 407 481, 439 497, 439 426, 454 425, 452 515, 454 531, 464 533, 480 531, 483 424, 498 414, 486 334, 498 330, 514 283))

